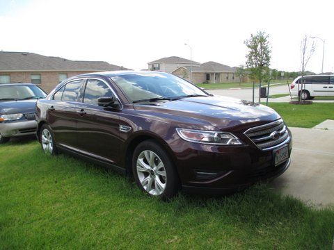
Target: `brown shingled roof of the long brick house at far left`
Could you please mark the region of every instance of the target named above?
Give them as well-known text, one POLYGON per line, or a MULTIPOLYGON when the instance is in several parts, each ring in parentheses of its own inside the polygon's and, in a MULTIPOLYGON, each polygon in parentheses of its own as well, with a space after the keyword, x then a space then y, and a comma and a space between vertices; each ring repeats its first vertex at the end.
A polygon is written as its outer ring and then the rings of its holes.
POLYGON ((68 60, 29 52, 0 51, 0 71, 106 71, 126 69, 103 61, 68 60))

